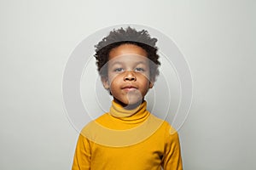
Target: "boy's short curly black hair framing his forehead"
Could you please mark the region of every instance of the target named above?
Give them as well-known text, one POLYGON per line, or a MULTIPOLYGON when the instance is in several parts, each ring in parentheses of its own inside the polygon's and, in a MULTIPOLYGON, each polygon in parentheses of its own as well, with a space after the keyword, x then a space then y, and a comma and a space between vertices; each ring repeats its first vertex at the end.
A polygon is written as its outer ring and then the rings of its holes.
POLYGON ((148 31, 137 31, 134 28, 128 26, 126 29, 123 27, 118 30, 113 29, 110 31, 108 37, 104 37, 101 42, 96 44, 96 65, 97 70, 101 77, 108 77, 108 63, 109 53, 113 48, 117 48, 122 44, 134 44, 143 48, 147 54, 148 59, 153 62, 149 64, 149 74, 151 81, 155 81, 155 77, 159 75, 158 66, 160 65, 159 55, 157 54, 158 48, 155 46, 157 42, 156 38, 149 36, 148 31))

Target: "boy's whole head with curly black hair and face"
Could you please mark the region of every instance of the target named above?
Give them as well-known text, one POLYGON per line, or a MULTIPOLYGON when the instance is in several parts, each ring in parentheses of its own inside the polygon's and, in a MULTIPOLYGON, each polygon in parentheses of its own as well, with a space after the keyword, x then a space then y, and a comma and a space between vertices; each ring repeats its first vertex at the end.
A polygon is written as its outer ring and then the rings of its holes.
POLYGON ((156 38, 131 27, 113 30, 96 45, 96 65, 104 88, 123 105, 136 105, 159 74, 156 38))

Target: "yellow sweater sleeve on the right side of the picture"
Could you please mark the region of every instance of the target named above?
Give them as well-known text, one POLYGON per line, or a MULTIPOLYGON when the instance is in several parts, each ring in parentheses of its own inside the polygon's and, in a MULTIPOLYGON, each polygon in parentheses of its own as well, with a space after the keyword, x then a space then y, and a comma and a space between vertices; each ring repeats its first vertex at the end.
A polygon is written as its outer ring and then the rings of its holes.
POLYGON ((183 169, 178 134, 172 127, 168 128, 166 132, 165 155, 162 160, 162 167, 164 170, 183 169))

